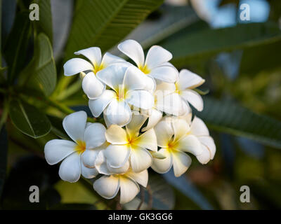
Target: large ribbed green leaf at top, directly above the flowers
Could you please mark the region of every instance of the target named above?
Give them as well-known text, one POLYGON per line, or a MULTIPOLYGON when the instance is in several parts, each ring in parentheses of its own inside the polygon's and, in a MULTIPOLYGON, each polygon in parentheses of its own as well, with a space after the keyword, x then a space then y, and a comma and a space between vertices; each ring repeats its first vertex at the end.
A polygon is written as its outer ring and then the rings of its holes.
POLYGON ((66 57, 83 48, 109 50, 138 26, 163 0, 78 0, 66 57))

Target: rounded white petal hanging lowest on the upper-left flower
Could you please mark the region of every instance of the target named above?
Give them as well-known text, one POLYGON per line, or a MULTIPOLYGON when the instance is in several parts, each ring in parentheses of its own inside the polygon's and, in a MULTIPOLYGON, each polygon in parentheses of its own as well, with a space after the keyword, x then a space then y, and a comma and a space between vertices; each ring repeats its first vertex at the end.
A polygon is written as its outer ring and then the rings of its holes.
POLYGON ((89 99, 96 99, 105 90, 105 85, 96 78, 93 72, 89 72, 83 78, 82 88, 89 99))

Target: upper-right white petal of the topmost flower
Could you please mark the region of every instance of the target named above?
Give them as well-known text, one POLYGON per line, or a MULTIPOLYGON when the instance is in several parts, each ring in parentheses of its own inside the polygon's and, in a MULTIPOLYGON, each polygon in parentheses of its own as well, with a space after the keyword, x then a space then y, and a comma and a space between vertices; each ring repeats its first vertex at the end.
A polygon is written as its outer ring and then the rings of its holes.
POLYGON ((146 55, 145 59, 145 65, 147 65, 149 69, 153 69, 165 62, 169 62, 172 57, 173 55, 171 55, 171 52, 168 50, 158 45, 153 45, 150 50, 148 50, 148 55, 146 55))

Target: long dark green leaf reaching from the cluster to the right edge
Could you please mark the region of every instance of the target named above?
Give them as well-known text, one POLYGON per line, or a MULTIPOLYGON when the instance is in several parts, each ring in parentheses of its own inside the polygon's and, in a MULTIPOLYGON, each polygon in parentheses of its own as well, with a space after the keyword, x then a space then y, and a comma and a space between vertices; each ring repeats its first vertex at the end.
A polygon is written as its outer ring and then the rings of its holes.
POLYGON ((211 129, 281 148, 280 121, 254 113, 233 102, 205 97, 204 110, 196 112, 196 115, 211 129))

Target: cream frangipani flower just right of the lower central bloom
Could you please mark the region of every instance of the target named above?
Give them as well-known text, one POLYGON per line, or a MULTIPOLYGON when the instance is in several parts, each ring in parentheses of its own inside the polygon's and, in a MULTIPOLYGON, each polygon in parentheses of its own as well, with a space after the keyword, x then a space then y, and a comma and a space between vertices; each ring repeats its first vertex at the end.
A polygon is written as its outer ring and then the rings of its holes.
POLYGON ((187 135, 190 131, 188 123, 181 118, 166 116, 154 127, 157 144, 166 158, 153 158, 152 169, 160 174, 168 172, 174 167, 175 176, 181 176, 191 164, 191 158, 184 152, 193 155, 203 153, 201 143, 194 135, 187 135))

